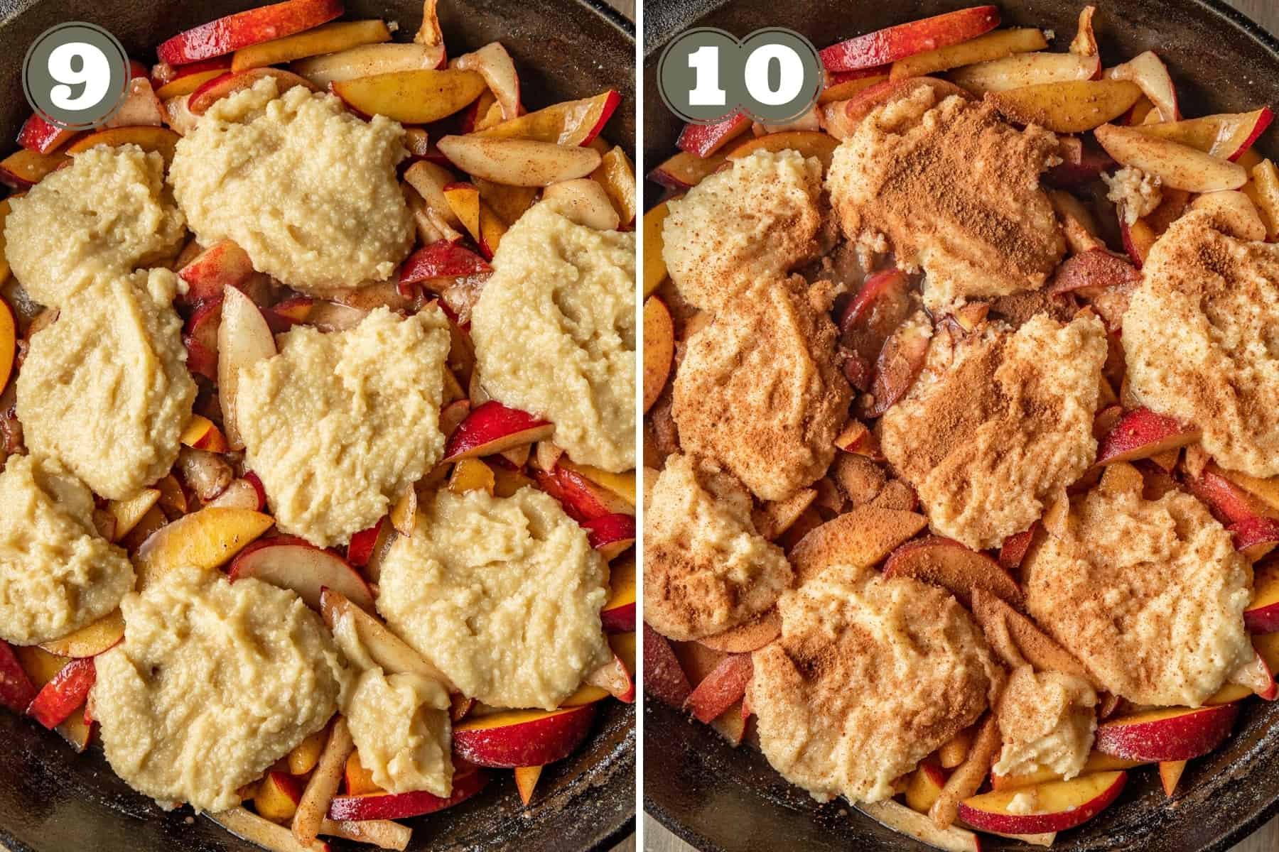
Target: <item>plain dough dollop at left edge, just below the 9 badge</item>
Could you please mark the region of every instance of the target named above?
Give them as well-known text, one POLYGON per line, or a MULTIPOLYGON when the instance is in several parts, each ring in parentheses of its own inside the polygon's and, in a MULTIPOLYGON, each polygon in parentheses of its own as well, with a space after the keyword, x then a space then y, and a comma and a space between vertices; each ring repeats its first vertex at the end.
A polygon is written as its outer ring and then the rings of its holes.
POLYGON ((5 258, 27 294, 50 308, 97 278, 173 254, 185 234, 164 158, 136 144, 77 153, 10 203, 5 258))

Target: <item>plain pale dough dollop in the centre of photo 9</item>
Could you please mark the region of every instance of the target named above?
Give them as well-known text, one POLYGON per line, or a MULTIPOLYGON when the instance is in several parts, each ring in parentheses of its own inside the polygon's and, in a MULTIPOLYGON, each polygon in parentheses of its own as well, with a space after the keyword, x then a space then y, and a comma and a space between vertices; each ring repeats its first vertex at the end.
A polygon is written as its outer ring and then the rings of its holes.
POLYGON ((281 530, 344 544, 444 455, 446 323, 379 308, 348 331, 298 327, 240 374, 246 464, 281 530))

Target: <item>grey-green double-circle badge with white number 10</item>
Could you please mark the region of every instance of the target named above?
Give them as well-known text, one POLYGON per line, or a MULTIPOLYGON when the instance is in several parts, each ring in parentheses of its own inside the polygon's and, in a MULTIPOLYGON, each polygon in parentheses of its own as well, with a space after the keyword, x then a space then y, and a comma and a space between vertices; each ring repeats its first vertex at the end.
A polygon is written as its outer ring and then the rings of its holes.
POLYGON ((803 115, 821 93, 817 49, 790 29, 756 29, 738 41, 701 27, 678 36, 657 63, 657 88, 679 118, 712 124, 735 112, 780 124, 803 115))

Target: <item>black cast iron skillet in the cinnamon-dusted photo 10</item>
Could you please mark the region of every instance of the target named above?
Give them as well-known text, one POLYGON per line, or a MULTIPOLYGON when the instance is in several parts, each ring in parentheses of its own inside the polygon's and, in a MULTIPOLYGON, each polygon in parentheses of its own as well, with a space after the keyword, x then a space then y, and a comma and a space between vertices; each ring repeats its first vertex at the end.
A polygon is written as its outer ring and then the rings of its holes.
MULTIPOLYGON (((817 47, 982 0, 648 0, 645 4, 645 162, 670 156, 679 123, 656 88, 657 56, 678 32, 720 27, 746 36, 760 27, 789 27, 817 47)), ((987 0, 1004 24, 1056 31, 1064 50, 1085 0, 987 0)), ((1216 0, 1092 0, 1108 64, 1157 50, 1168 63, 1187 116, 1279 105, 1279 42, 1216 0)), ((1274 157, 1274 130, 1260 149, 1274 157)), ((648 190, 656 198, 654 186, 648 190)), ((788 784, 752 749, 730 750, 706 726, 674 710, 645 708, 645 810, 707 851, 925 849, 836 800, 815 803, 788 784)), ((1221 749, 1192 760, 1175 800, 1166 800, 1151 770, 1129 773, 1120 801, 1077 830, 1058 835, 1058 852, 1142 849, 1220 852, 1279 812, 1279 705, 1244 703, 1236 732, 1221 749)), ((984 849, 1028 849, 981 835, 984 849)))

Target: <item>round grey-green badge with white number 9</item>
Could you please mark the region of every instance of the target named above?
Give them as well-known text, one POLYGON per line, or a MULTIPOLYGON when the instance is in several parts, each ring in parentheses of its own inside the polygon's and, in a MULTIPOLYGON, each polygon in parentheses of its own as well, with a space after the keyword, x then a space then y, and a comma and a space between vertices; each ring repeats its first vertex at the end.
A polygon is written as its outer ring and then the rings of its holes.
POLYGON ((129 57, 101 27, 59 24, 27 50, 22 86, 32 109, 51 123, 73 130, 93 128, 123 105, 129 57))

